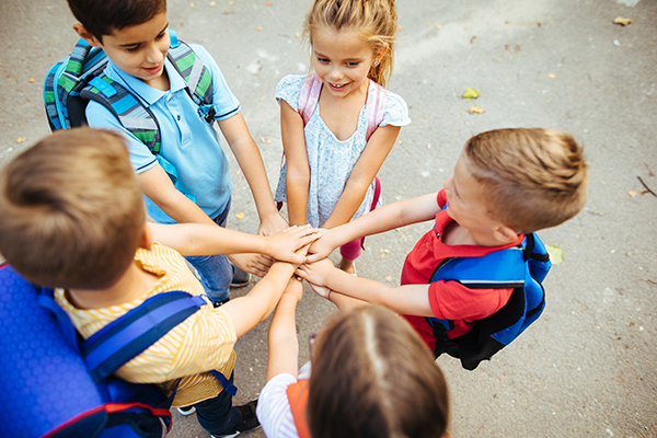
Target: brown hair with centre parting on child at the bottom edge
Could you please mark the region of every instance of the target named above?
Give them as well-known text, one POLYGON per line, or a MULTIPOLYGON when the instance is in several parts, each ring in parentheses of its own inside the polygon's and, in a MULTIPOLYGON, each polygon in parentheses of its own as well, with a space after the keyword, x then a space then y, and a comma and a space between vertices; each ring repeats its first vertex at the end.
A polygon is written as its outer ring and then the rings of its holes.
POLYGON ((307 407, 313 438, 446 434, 447 382, 403 318, 364 306, 330 323, 315 346, 307 407))

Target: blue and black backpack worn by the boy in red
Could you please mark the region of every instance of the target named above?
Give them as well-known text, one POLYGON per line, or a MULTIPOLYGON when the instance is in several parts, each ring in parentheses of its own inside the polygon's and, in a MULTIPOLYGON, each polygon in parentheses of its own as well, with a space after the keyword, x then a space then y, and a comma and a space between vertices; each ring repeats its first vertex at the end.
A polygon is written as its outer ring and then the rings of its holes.
POLYGON ((442 261, 430 281, 453 280, 472 289, 514 288, 508 302, 497 312, 474 322, 464 335, 450 338, 453 321, 427 318, 434 328, 436 349, 461 359, 468 370, 509 345, 532 324, 545 308, 542 281, 552 263, 543 242, 527 234, 518 246, 492 252, 483 257, 452 257, 442 261))

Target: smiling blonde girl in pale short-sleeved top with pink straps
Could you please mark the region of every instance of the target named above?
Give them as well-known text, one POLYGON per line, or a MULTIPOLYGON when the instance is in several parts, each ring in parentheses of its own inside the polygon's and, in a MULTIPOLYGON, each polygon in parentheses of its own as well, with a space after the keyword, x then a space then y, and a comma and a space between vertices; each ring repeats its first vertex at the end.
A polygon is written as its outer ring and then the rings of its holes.
MULTIPOLYGON (((287 162, 275 199, 288 203, 290 224, 334 228, 377 206, 377 172, 411 123, 404 100, 383 89, 394 1, 313 0, 303 27, 314 73, 287 76, 276 90, 287 162)), ((341 269, 355 273, 360 246, 345 242, 341 269)))

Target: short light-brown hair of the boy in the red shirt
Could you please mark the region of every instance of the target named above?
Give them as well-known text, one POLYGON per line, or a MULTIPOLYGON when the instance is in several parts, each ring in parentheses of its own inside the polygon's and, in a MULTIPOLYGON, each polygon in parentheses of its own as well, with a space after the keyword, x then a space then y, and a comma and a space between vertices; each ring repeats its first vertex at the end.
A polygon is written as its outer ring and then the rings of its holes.
POLYGON ((583 148, 567 134, 489 130, 468 140, 464 153, 486 189, 491 216, 519 232, 555 227, 584 208, 588 170, 583 148))

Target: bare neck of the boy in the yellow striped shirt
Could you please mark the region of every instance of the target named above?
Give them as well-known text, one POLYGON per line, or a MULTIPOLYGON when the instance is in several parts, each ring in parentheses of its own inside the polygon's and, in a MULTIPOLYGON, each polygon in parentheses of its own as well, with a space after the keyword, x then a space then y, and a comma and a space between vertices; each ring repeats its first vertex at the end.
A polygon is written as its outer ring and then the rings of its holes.
POLYGON ((69 301, 78 309, 101 309, 130 302, 147 292, 155 283, 158 276, 148 273, 136 262, 114 285, 106 289, 70 289, 67 291, 69 301))

